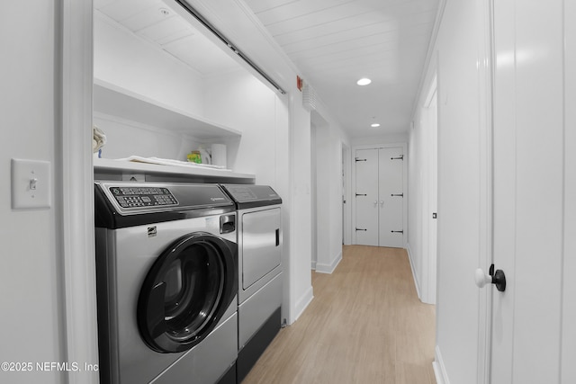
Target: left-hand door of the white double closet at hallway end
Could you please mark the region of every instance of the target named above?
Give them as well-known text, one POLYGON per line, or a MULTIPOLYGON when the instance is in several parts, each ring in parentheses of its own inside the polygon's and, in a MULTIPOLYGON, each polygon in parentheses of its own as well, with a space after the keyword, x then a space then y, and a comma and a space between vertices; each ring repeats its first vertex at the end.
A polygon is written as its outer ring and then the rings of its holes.
POLYGON ((356 244, 378 246, 378 149, 356 149, 356 244))

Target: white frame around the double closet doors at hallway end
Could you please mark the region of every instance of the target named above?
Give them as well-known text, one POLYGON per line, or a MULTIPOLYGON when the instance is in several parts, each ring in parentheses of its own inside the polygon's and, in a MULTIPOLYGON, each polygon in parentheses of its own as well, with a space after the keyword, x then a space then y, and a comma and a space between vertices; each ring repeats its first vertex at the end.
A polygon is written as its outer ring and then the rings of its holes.
POLYGON ((402 143, 386 143, 386 144, 376 144, 376 145, 364 145, 352 147, 352 152, 350 156, 350 166, 352 168, 352 191, 350 192, 350 200, 352 201, 352 227, 350 231, 352 232, 352 244, 356 243, 356 150, 358 149, 380 149, 380 148, 393 148, 402 147, 402 153, 404 154, 404 160, 402 161, 402 188, 404 190, 404 198, 402 201, 402 222, 403 230, 402 234, 402 245, 406 248, 408 244, 408 151, 407 144, 402 143), (354 199, 353 199, 354 197, 354 199))

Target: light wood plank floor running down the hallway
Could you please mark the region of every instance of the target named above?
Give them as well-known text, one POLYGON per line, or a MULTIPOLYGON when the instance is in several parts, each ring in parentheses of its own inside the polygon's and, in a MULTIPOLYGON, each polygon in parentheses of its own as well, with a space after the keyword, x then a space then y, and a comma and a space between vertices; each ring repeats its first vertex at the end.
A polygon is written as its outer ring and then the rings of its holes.
POLYGON ((435 307, 419 301, 405 250, 344 246, 312 286, 310 306, 242 384, 436 383, 435 307))

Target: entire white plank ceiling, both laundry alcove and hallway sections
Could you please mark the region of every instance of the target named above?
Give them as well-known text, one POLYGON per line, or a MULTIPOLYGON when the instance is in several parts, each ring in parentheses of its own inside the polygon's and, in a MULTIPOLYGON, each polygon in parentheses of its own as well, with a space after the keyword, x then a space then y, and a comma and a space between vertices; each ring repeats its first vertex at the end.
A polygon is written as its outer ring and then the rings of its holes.
MULTIPOLYGON (((438 0, 237 1, 252 9, 350 138, 408 131, 438 0), (372 84, 356 85, 361 77, 372 84)), ((238 68, 162 0, 94 0, 94 10, 201 76, 238 68)))

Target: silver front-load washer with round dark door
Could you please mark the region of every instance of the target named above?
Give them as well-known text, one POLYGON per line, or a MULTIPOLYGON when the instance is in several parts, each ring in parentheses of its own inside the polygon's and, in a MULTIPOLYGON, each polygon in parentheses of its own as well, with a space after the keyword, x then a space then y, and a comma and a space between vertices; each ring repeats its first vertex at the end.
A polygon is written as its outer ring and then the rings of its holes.
POLYGON ((100 381, 236 383, 238 246, 218 185, 96 183, 100 381))

